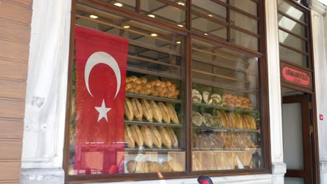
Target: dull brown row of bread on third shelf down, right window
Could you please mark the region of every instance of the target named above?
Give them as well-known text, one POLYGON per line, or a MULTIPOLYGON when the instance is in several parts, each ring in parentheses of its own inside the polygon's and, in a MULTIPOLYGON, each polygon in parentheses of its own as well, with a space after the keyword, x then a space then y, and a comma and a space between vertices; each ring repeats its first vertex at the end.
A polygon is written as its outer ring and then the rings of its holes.
POLYGON ((245 149, 256 148, 251 135, 243 132, 218 132, 193 136, 193 147, 201 149, 245 149))

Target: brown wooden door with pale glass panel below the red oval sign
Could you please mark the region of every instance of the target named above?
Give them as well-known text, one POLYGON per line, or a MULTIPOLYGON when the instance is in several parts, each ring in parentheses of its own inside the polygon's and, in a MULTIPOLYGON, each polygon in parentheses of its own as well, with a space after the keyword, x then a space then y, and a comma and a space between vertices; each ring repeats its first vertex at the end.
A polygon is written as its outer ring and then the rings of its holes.
POLYGON ((283 98, 285 184, 313 183, 309 95, 283 98))

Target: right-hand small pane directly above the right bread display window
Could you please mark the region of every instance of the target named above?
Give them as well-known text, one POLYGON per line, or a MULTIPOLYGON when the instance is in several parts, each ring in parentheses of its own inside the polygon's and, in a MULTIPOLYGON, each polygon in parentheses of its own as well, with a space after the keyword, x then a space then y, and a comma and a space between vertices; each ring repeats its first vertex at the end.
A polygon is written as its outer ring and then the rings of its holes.
POLYGON ((259 39, 250 36, 247 33, 243 33, 241 31, 237 31, 235 29, 231 29, 231 43, 235 45, 240 45, 242 47, 246 47, 248 49, 252 49, 255 51, 259 50, 259 39))

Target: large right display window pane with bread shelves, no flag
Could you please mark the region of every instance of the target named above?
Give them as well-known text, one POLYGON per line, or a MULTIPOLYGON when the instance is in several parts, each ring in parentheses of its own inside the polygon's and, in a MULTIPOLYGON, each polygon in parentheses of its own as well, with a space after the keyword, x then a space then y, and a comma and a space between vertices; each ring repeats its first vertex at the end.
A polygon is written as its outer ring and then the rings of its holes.
POLYGON ((258 58, 191 43, 192 170, 263 167, 258 58))

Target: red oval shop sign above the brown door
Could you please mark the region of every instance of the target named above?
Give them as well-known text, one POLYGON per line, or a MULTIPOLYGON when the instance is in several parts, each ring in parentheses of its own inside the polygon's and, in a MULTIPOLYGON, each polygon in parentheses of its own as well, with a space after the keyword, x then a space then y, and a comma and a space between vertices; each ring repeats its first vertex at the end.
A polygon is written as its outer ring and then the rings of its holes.
POLYGON ((294 82, 305 86, 309 86, 311 81, 309 75, 307 75, 305 72, 294 70, 293 68, 289 68, 289 67, 283 68, 282 75, 289 82, 294 82))

